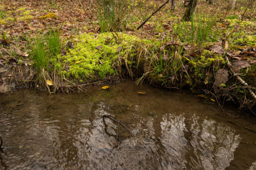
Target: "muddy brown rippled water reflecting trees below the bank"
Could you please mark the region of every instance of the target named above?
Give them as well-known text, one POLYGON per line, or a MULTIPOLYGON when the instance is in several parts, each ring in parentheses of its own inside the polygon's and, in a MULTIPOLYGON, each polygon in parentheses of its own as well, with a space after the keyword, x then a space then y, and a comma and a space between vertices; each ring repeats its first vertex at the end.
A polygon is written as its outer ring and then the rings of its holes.
POLYGON ((255 118, 231 119, 188 92, 110 86, 0 94, 0 170, 255 169, 255 118), (119 126, 115 146, 117 124, 102 118, 109 114, 135 138, 119 126))

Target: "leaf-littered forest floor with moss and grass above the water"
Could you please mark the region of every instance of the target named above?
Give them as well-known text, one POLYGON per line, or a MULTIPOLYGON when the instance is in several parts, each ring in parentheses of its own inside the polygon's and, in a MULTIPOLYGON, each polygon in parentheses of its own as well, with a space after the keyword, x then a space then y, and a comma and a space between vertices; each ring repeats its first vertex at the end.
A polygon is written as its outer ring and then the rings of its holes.
POLYGON ((233 103, 256 114, 251 95, 256 92, 253 5, 238 3, 235 10, 227 10, 225 3, 199 0, 194 20, 183 22, 185 7, 178 1, 172 10, 168 3, 137 30, 162 3, 138 0, 127 9, 123 28, 103 33, 93 0, 1 1, 0 91, 80 91, 129 77, 138 84, 146 80, 157 87, 189 88, 221 108, 233 103), (61 45, 49 55, 44 51, 51 51, 47 37, 53 29, 61 45), (48 58, 43 67, 33 57, 37 42, 48 58))

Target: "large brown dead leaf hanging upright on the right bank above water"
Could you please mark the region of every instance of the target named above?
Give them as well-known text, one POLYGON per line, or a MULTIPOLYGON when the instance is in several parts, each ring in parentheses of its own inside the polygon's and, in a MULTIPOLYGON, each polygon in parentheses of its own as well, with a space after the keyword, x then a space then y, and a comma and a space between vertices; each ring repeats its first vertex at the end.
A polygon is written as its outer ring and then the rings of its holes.
POLYGON ((213 84, 214 92, 219 92, 218 87, 223 87, 221 84, 225 84, 228 81, 228 70, 225 70, 224 68, 219 69, 215 73, 215 82, 213 84))

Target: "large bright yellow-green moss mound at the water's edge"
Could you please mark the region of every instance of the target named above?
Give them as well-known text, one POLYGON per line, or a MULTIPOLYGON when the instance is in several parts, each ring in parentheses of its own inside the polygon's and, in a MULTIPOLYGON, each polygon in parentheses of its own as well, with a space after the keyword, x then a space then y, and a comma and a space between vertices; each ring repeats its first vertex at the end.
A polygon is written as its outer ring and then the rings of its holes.
MULTIPOLYGON (((76 77, 79 80, 94 79, 97 76, 103 78, 106 75, 117 74, 118 70, 115 67, 118 65, 118 57, 133 56, 135 45, 141 43, 141 40, 136 36, 121 34, 119 35, 121 44, 117 44, 115 39, 107 44, 105 42, 106 37, 113 37, 113 35, 108 32, 96 37, 91 33, 77 36, 74 49, 69 49, 65 56, 58 56, 64 65, 69 66, 69 70, 63 71, 63 73, 68 77, 76 77), (102 47, 97 50, 96 47, 99 45, 102 45, 102 47), (122 49, 117 52, 120 46, 122 49), (103 64, 100 64, 99 59, 103 64)), ((148 40, 143 40, 143 42, 151 44, 148 40)), ((128 62, 128 65, 131 65, 131 63, 131 61, 128 62)))

